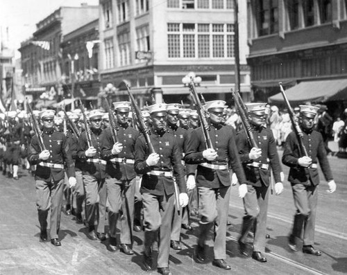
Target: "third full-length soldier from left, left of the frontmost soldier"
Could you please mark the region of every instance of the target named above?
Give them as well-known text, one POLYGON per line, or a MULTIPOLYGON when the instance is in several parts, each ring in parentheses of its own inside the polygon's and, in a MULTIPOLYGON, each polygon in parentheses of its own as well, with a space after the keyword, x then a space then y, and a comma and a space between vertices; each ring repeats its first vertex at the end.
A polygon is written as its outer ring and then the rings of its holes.
POLYGON ((117 221, 120 222, 121 245, 120 250, 127 255, 133 255, 133 220, 134 198, 136 188, 136 173, 134 170, 135 141, 139 132, 128 125, 128 115, 131 103, 121 101, 113 103, 117 116, 117 138, 112 138, 111 128, 103 134, 103 159, 108 161, 106 172, 106 186, 108 190, 108 210, 110 224, 111 251, 117 250, 116 233, 117 221), (121 218, 121 215, 123 217, 121 218))

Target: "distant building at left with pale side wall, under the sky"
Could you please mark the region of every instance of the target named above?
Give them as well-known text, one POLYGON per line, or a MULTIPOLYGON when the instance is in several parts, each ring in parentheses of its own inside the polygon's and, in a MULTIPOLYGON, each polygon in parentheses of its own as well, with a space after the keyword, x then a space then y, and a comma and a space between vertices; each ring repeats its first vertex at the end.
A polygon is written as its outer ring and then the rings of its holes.
POLYGON ((61 44, 65 35, 98 19, 99 7, 60 7, 36 24, 33 37, 22 42, 24 93, 37 100, 42 92, 63 96, 64 82, 61 44))

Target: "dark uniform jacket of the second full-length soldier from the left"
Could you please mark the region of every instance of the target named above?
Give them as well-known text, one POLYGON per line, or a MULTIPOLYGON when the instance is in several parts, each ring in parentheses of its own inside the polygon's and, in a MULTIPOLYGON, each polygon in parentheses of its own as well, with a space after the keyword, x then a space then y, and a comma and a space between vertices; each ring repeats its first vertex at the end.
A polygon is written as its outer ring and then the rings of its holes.
POLYGON ((92 146, 96 149, 94 157, 85 156, 85 151, 88 149, 86 132, 82 132, 78 138, 77 157, 79 161, 83 162, 83 166, 81 167, 82 174, 96 177, 96 179, 105 179, 106 177, 106 161, 101 159, 102 132, 101 129, 92 129, 90 133, 92 146), (95 159, 95 161, 99 162, 87 161, 87 159, 95 159))

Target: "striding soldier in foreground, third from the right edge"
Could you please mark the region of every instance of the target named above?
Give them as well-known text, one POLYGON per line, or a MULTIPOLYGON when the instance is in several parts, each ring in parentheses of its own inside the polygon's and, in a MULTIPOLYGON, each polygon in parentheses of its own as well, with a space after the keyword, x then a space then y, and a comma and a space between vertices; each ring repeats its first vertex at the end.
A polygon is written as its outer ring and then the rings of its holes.
POLYGON ((205 105, 210 115, 210 139, 212 148, 206 148, 203 130, 198 127, 189 136, 185 163, 198 164, 196 186, 201 205, 200 235, 196 248, 196 260, 205 261, 205 240, 214 226, 213 265, 230 269, 226 263, 226 222, 230 199, 230 163, 241 184, 246 177, 236 148, 236 134, 231 127, 221 124, 223 100, 213 100, 205 105))

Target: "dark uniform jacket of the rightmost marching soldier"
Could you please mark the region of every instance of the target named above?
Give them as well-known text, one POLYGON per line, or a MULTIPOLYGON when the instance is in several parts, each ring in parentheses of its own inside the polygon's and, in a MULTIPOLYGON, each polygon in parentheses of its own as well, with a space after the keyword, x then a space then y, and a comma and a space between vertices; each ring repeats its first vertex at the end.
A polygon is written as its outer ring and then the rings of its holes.
MULTIPOLYGON (((330 170, 321 133, 314 130, 303 131, 303 144, 307 149, 308 157, 312 159, 312 163, 317 163, 319 161, 325 180, 332 180, 332 172, 330 170)), ((302 157, 299 154, 298 148, 296 134, 295 132, 291 132, 287 136, 285 151, 282 156, 282 163, 290 167, 288 181, 291 182, 291 184, 319 184, 317 168, 304 168, 298 165, 298 159, 302 157)))

